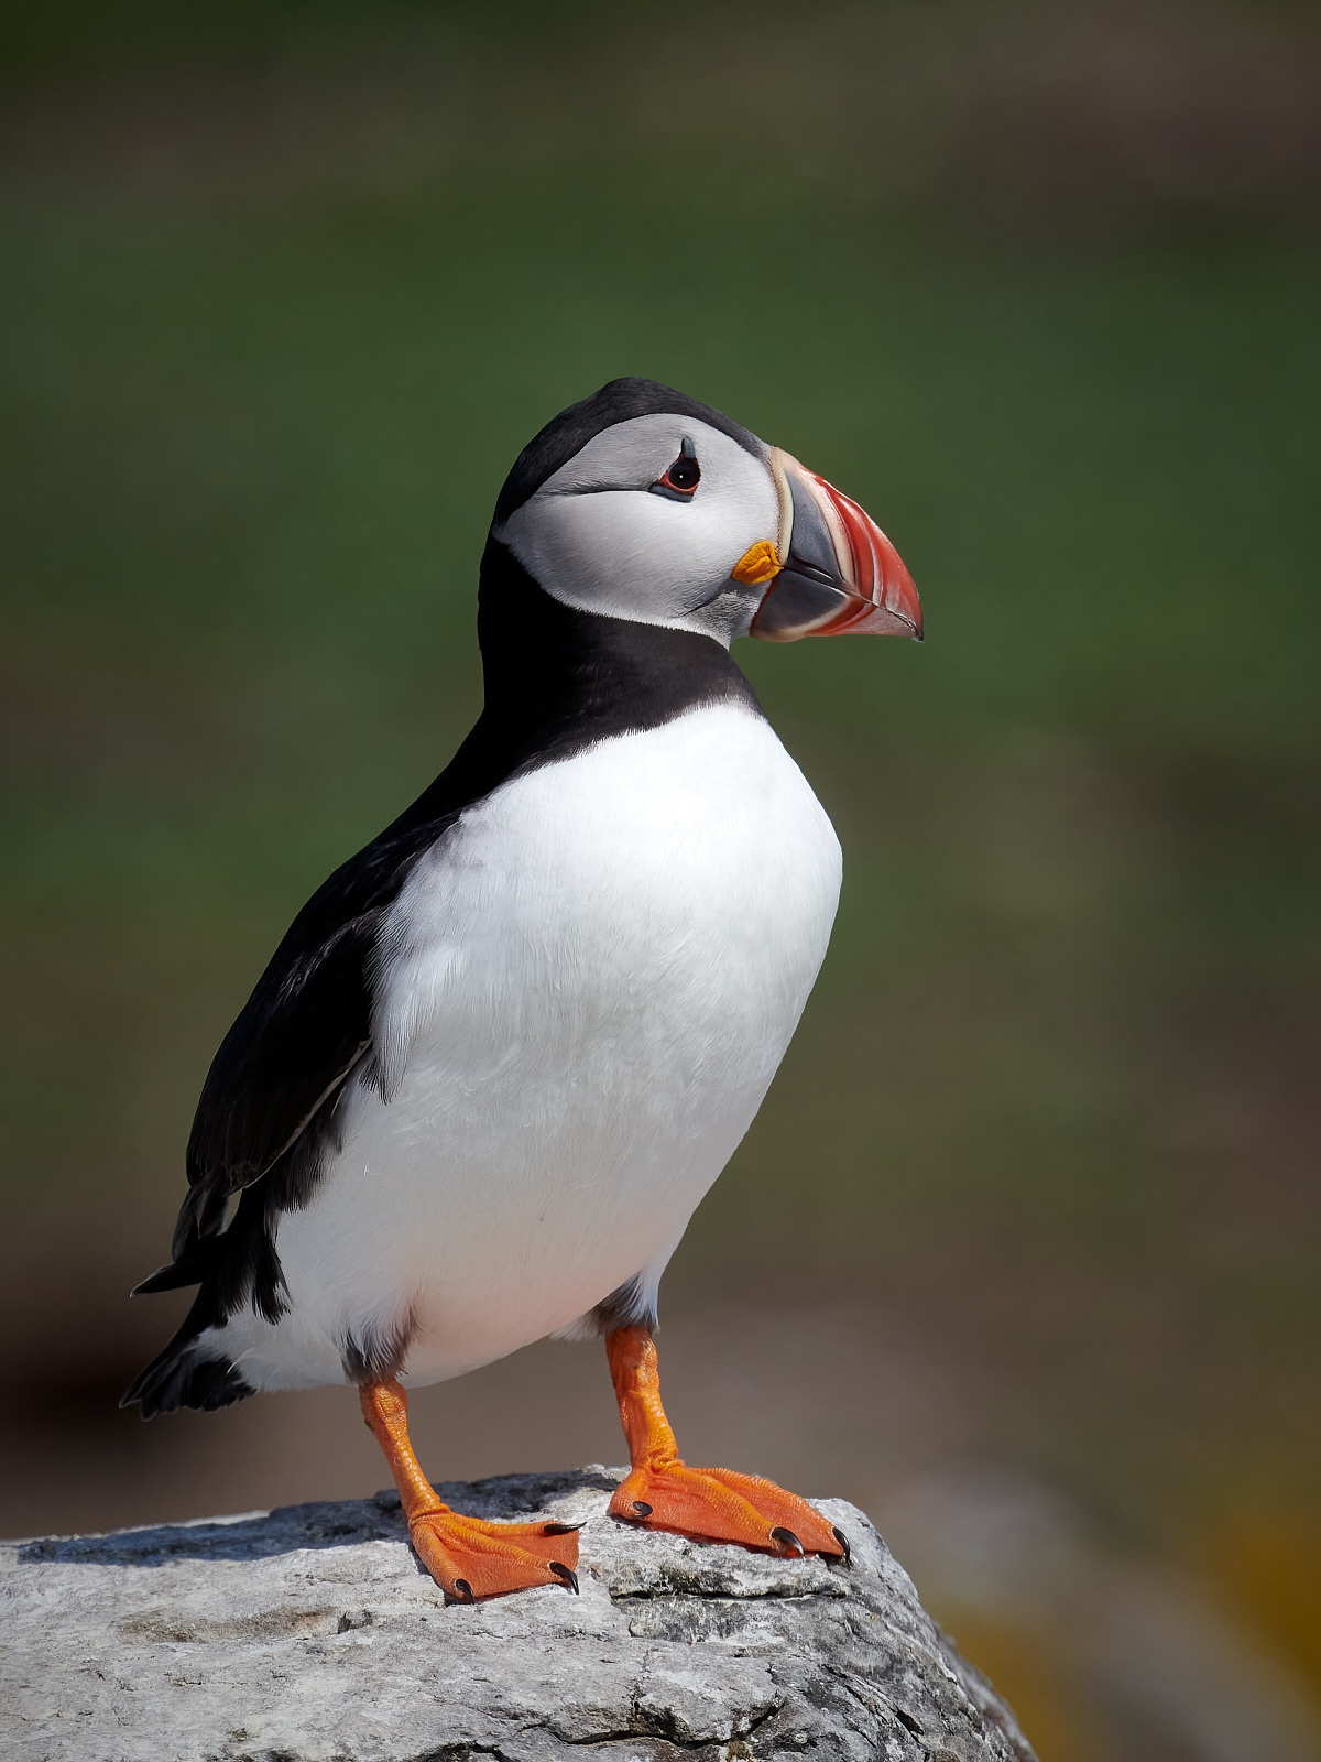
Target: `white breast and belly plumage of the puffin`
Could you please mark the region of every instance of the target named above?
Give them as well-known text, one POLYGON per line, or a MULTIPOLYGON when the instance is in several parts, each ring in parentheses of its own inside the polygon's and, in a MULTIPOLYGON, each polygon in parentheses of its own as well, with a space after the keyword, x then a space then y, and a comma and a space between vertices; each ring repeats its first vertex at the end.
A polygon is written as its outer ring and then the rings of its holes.
POLYGON ((338 1381, 412 1316, 440 1381, 659 1279, 752 1122, 826 953, 838 842, 770 726, 694 710, 497 789, 387 923, 343 1151, 280 1219, 291 1314, 218 1344, 338 1381))

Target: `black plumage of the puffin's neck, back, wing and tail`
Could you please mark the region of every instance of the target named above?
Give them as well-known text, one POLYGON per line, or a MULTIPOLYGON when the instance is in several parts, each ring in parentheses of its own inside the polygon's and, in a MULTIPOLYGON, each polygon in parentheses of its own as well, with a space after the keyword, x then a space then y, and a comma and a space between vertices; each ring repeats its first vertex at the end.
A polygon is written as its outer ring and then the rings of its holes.
MULTIPOLYGON (((724 418, 720 425, 731 426, 724 418)), ((141 1401, 146 1417, 250 1394, 232 1366, 197 1362, 190 1348, 203 1329, 245 1302, 269 1322, 287 1309, 277 1223, 308 1202, 328 1152, 338 1149, 347 1078, 359 1068, 373 1077, 379 934, 417 860, 465 807, 597 740, 655 728, 705 703, 738 701, 759 714, 747 678, 713 638, 565 606, 495 539, 481 564, 477 636, 486 698, 470 735, 437 781, 317 888, 215 1055, 188 1138, 174 1260, 137 1286, 201 1283, 178 1336, 125 1396, 141 1401), (238 1210, 225 1226, 236 1193, 238 1210)), ((370 1351, 354 1350, 370 1367, 370 1351)))

